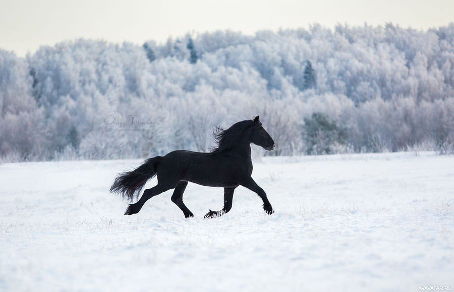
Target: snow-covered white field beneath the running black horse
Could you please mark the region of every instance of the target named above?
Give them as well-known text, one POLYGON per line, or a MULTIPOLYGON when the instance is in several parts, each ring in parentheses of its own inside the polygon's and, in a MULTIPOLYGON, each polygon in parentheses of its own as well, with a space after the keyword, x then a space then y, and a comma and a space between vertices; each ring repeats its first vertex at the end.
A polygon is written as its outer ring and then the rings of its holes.
MULTIPOLYGON (((140 161, 0 165, 0 290, 406 290, 454 285, 454 157, 264 158, 239 187, 189 184, 139 214, 108 193, 140 161)), ((155 184, 151 180, 147 186, 155 184)))

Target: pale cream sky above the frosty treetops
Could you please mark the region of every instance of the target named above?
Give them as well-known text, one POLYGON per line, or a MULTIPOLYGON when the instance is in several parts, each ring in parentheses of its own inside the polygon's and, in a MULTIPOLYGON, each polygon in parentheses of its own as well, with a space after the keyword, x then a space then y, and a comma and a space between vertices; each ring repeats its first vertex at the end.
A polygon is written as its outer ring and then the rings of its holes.
POLYGON ((454 0, 0 0, 0 48, 20 56, 76 38, 165 42, 187 32, 454 22, 454 0))

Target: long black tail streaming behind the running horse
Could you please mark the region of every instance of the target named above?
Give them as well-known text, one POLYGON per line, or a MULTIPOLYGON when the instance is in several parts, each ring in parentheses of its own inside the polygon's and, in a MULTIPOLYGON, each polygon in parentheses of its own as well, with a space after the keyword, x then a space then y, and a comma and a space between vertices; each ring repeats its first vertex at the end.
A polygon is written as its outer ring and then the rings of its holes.
POLYGON ((118 193, 124 199, 132 201, 138 196, 145 183, 156 175, 156 169, 161 162, 162 156, 156 156, 144 161, 144 163, 133 171, 119 174, 112 186, 111 193, 118 193))

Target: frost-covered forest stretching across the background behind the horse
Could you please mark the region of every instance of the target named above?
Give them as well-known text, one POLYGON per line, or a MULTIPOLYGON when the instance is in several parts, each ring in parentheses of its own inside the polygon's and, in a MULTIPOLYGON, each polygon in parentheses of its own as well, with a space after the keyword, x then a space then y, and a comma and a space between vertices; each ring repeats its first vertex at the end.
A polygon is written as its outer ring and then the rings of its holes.
POLYGON ((452 153, 454 24, 0 49, 2 161, 208 151, 213 125, 258 114, 276 142, 264 155, 452 153))

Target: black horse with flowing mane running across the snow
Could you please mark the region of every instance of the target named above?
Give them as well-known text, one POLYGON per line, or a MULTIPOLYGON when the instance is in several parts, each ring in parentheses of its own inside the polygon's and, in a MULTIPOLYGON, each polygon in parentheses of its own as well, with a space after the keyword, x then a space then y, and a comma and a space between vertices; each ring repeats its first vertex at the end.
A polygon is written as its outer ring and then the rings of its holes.
POLYGON ((185 217, 194 216, 183 203, 183 192, 188 181, 224 188, 224 207, 220 211, 209 210, 205 218, 229 212, 234 190, 239 185, 256 192, 263 200, 265 212, 273 213, 265 191, 251 177, 250 144, 254 143, 268 151, 274 149, 274 141, 262 127, 259 116, 254 120, 238 122, 226 130, 218 127, 214 136, 217 148, 210 153, 177 150, 164 157, 150 158, 135 170, 118 175, 110 187, 110 192, 120 193, 129 201, 139 195, 142 187, 154 175, 157 175, 158 180, 156 186, 143 192, 139 201, 128 206, 125 215, 138 213, 148 199, 175 188, 172 201, 183 211, 185 217))

